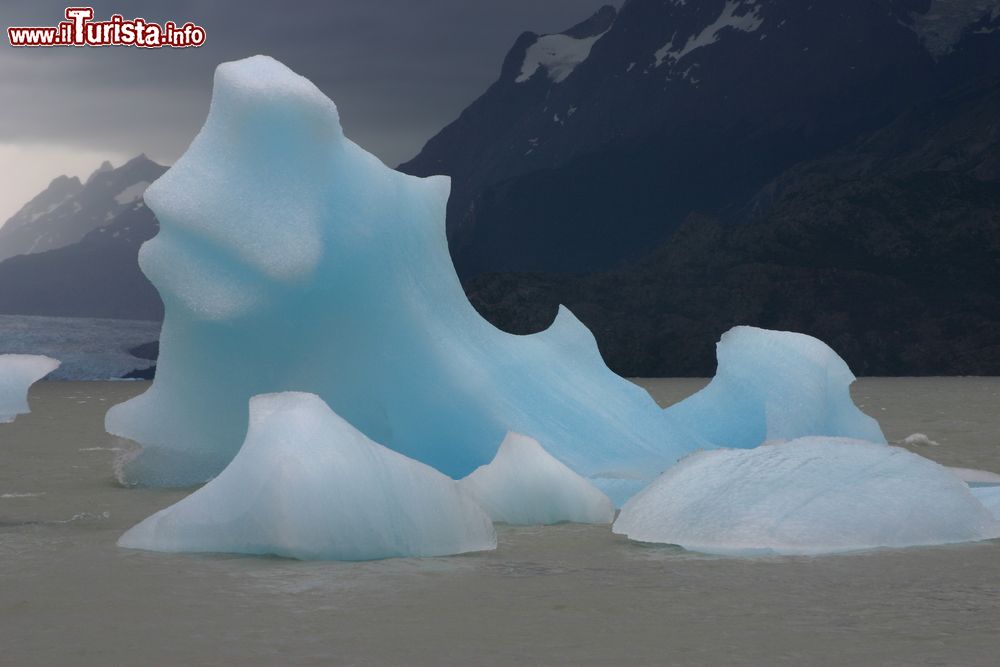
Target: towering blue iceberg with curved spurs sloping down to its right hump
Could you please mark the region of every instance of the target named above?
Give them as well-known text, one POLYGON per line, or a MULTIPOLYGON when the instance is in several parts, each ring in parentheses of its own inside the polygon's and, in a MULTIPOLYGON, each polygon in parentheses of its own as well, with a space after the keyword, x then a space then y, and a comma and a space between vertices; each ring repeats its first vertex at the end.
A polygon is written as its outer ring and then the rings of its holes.
POLYGON ((211 478, 242 442, 249 398, 288 390, 318 394, 371 439, 453 478, 488 463, 508 431, 524 433, 616 502, 714 446, 701 434, 708 423, 748 444, 764 413, 786 436, 847 434, 844 419, 809 404, 849 401, 834 384, 849 381, 846 367, 831 376, 827 359, 783 365, 797 354, 786 345, 803 341, 832 355, 807 337, 770 343, 751 360, 764 377, 736 373, 717 410, 700 400, 677 419, 609 371, 565 308, 541 333, 499 331, 454 272, 449 187, 393 171, 346 139, 333 102, 280 63, 219 66, 205 126, 144 195, 160 232, 139 260, 166 318, 152 387, 107 416, 108 431, 143 445, 122 481, 211 478), (772 369, 765 355, 781 359, 772 369), (791 383, 787 408, 810 418, 783 414, 774 383, 791 383), (747 415, 757 419, 749 435, 739 426, 747 415))

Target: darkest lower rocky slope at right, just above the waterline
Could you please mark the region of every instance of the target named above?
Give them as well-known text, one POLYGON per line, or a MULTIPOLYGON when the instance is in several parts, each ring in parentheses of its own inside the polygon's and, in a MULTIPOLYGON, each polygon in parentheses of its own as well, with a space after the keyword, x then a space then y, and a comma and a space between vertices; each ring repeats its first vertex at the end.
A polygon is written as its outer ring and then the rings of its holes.
POLYGON ((619 270, 466 288, 516 333, 566 304, 625 375, 711 375, 736 324, 817 336, 858 374, 1000 375, 1000 77, 793 166, 747 208, 691 215, 619 270))

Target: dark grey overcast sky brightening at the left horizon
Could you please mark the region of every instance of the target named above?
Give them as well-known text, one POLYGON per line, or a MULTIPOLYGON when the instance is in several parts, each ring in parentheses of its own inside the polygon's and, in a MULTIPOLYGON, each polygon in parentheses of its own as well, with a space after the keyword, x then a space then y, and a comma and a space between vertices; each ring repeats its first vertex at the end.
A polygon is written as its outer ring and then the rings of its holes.
POLYGON ((171 163, 208 111, 226 60, 274 56, 337 103, 347 134, 395 166, 492 83, 525 30, 559 32, 608 0, 101 2, 111 14, 192 21, 196 49, 11 48, 6 28, 63 20, 64 3, 3 0, 0 222, 59 174, 146 153, 171 163))

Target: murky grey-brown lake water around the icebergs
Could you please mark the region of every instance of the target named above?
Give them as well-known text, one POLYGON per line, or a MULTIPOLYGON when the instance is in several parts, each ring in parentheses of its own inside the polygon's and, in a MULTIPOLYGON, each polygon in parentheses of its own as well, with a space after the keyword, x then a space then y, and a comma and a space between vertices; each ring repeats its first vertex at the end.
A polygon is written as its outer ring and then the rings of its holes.
MULTIPOLYGON (((668 404, 704 382, 640 383, 668 404)), ((112 478, 104 411, 145 387, 39 383, 0 425, 0 664, 1000 664, 1000 541, 738 560, 561 525, 369 563, 119 549, 186 494, 112 478)), ((890 440, 1000 472, 1000 378, 853 393, 890 440)))

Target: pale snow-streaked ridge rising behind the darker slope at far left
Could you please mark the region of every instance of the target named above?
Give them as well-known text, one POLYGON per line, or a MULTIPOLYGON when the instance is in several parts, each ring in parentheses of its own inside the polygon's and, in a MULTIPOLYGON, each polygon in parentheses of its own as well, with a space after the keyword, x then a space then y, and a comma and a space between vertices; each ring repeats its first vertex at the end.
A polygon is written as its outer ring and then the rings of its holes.
POLYGON ((146 186, 166 171, 145 155, 113 168, 105 162, 80 183, 60 176, 0 227, 0 261, 77 243, 142 204, 146 186))

